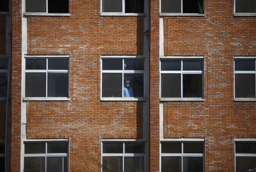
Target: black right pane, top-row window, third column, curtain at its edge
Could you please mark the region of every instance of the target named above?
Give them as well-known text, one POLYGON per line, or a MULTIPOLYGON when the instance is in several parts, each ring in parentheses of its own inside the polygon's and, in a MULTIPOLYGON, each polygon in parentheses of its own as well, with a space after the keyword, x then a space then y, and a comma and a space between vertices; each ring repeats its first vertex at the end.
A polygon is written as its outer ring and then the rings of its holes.
POLYGON ((203 0, 183 0, 183 13, 204 13, 203 0))

